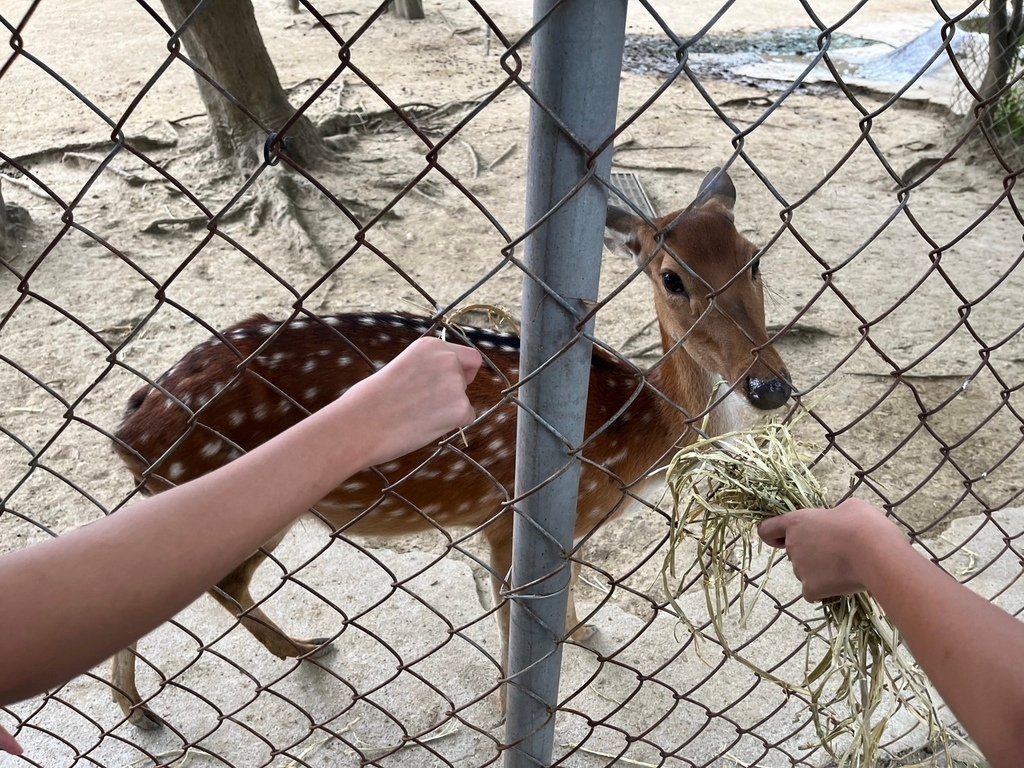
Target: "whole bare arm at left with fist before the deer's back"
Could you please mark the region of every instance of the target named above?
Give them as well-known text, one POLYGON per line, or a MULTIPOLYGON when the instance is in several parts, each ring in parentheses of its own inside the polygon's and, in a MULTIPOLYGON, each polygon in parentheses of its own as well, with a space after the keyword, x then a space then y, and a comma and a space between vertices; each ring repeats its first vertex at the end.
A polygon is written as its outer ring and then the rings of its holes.
MULTIPOLYGON (((0 706, 61 683, 155 629, 345 478, 468 424, 466 387, 479 366, 473 349, 420 339, 222 469, 0 556, 0 706)), ((3 728, 0 749, 18 749, 3 728)))

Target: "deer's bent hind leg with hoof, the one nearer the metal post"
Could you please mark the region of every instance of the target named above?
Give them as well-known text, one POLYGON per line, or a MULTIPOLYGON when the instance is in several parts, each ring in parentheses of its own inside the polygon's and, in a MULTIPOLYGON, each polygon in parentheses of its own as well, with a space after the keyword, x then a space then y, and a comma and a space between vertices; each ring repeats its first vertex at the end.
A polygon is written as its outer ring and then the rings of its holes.
POLYGON ((300 640, 285 633, 275 625, 253 600, 249 591, 253 573, 260 563, 266 559, 266 554, 272 550, 282 537, 268 543, 239 567, 224 577, 210 590, 213 598, 223 605, 253 637, 279 658, 296 658, 298 656, 315 658, 330 651, 330 638, 311 638, 300 640))

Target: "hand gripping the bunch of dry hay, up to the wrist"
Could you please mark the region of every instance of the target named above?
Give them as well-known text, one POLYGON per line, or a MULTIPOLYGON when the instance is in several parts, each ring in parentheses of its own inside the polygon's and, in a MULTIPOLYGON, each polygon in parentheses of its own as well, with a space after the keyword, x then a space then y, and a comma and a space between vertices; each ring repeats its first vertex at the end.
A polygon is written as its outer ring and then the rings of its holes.
POLYGON ((881 510, 857 499, 770 517, 758 536, 785 549, 804 598, 812 601, 868 589, 872 558, 893 546, 909 547, 881 510))

